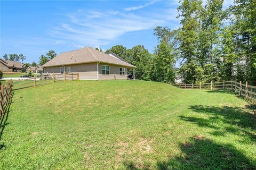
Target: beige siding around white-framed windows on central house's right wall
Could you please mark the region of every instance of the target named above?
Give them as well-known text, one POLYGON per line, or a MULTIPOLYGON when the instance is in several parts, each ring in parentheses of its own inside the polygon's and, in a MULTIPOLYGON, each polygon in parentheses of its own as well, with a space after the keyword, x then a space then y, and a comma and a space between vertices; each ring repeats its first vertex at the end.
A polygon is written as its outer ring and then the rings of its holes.
POLYGON ((99 64, 99 80, 115 80, 115 78, 116 80, 127 79, 127 67, 105 63, 99 64), (109 74, 102 74, 102 65, 108 65, 110 67, 109 74), (119 73, 121 67, 124 68, 124 75, 120 75, 119 73))

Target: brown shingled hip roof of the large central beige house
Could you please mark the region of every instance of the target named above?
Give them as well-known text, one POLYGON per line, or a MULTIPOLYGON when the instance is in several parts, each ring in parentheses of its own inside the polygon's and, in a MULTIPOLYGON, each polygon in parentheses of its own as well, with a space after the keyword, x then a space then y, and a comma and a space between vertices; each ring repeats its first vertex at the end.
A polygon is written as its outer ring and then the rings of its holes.
POLYGON ((49 62, 42 65, 42 67, 51 67, 58 65, 81 64, 102 62, 116 65, 123 65, 127 67, 135 67, 125 61, 119 60, 116 57, 102 53, 91 47, 84 47, 70 52, 60 53, 49 62))

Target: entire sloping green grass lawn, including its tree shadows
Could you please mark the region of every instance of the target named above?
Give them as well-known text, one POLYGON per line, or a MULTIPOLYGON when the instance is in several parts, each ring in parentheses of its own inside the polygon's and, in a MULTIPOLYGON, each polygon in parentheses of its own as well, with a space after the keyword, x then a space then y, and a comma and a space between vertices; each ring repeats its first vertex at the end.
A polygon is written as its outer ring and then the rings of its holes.
POLYGON ((228 91, 68 81, 14 91, 0 169, 256 169, 256 117, 228 91))

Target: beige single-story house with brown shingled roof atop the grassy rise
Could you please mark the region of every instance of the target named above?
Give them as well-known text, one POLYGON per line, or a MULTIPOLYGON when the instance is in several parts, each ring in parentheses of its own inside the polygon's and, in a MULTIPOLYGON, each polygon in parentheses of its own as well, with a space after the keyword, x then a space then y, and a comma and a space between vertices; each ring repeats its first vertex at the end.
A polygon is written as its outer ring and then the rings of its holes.
POLYGON ((91 47, 60 53, 42 65, 43 73, 78 72, 80 79, 115 80, 127 79, 131 65, 114 53, 105 54, 91 47))

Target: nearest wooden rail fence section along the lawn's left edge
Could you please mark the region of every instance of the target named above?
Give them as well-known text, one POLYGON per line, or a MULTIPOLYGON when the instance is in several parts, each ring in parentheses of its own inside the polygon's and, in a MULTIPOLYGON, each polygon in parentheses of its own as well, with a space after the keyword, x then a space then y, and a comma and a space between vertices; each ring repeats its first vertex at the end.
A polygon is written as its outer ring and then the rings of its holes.
POLYGON ((0 120, 4 116, 5 109, 10 103, 10 99, 12 97, 12 81, 9 80, 6 82, 5 86, 0 82, 1 86, 1 92, 0 92, 0 98, 1 98, 1 111, 0 111, 0 120))

